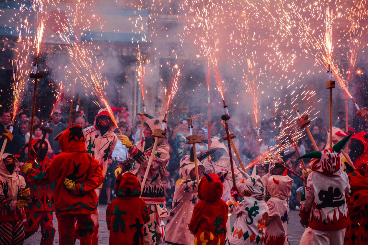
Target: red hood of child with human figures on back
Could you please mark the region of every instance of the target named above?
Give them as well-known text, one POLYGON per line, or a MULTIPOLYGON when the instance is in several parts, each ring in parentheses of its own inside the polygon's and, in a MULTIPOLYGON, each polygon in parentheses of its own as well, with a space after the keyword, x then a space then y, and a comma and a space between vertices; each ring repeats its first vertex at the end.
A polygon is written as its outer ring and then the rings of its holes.
POLYGON ((134 174, 119 174, 116 177, 115 192, 119 197, 139 196, 141 194, 141 186, 134 174))

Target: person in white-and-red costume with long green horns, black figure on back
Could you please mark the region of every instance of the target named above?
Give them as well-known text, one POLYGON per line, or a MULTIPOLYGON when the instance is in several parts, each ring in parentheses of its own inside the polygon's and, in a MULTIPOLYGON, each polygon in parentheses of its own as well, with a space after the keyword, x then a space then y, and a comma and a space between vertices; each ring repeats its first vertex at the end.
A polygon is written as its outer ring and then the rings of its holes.
POLYGON ((339 152, 350 136, 336 143, 332 149, 299 157, 313 158, 309 162, 312 173, 308 176, 305 195, 302 195, 300 203, 301 223, 312 228, 312 244, 343 244, 345 228, 350 223, 345 198, 350 186, 339 152))

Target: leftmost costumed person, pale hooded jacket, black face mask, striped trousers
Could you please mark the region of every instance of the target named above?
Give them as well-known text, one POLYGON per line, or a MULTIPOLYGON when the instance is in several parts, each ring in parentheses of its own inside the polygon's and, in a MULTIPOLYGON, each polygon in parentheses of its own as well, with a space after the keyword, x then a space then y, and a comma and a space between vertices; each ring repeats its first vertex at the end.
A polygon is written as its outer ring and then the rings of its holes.
POLYGON ((25 181, 15 173, 19 161, 14 155, 3 154, 0 161, 0 244, 21 245, 24 242, 23 219, 26 201, 25 181))

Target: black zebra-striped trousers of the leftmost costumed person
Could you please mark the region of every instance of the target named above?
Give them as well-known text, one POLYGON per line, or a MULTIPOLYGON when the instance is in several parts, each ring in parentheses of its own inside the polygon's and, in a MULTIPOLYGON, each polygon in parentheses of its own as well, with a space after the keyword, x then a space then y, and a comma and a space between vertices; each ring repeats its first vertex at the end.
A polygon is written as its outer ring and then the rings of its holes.
POLYGON ((23 220, 0 222, 0 244, 21 245, 23 242, 23 220))

